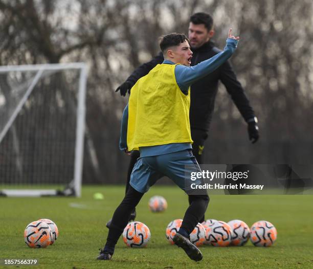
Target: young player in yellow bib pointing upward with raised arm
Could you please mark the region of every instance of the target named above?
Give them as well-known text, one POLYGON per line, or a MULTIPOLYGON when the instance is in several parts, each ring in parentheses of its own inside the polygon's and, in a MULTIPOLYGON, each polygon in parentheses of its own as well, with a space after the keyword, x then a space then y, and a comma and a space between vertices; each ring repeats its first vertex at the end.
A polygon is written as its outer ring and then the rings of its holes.
POLYGON ((200 185, 202 181, 190 178, 191 172, 200 172, 191 151, 190 85, 230 58, 238 40, 230 29, 224 51, 190 67, 192 52, 188 38, 183 34, 168 34, 162 38, 160 48, 164 62, 132 87, 123 112, 120 149, 125 152, 139 149, 140 158, 132 170, 127 193, 114 212, 106 243, 97 259, 111 259, 130 213, 159 178, 168 176, 188 195, 193 195, 173 241, 190 259, 202 260, 202 253, 189 240, 189 234, 209 203, 206 191, 191 188, 191 184, 200 185))

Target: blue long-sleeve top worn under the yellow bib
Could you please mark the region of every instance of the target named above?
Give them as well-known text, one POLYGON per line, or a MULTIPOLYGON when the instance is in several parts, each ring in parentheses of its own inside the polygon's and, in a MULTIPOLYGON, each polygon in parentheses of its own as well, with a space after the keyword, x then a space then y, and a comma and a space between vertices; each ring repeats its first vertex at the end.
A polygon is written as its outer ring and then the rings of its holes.
MULTIPOLYGON (((225 49, 213 56, 212 58, 198 63, 194 66, 185 66, 177 64, 175 66, 175 79, 177 85, 180 87, 184 94, 188 93, 188 88, 192 83, 200 78, 207 76, 213 72, 219 65, 229 59, 237 48, 238 41, 232 38, 226 40, 225 49)), ((175 64, 170 60, 164 60, 162 64, 175 64)), ((128 126, 128 104, 124 108, 122 123, 121 123, 121 137, 120 137, 120 150, 125 151, 127 149, 127 126, 128 126)), ((172 143, 167 145, 140 147, 140 156, 155 156, 161 154, 167 154, 171 152, 177 152, 185 149, 191 149, 190 143, 172 143)))

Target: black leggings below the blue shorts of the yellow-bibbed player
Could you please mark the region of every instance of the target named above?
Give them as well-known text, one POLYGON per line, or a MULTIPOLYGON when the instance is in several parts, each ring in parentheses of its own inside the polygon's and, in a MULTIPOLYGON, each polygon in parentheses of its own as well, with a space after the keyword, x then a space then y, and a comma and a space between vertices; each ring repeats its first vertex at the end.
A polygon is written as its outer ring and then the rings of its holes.
MULTIPOLYGON (((144 193, 138 192, 131 186, 128 187, 128 191, 125 194, 121 204, 115 210, 109 232, 106 239, 106 245, 110 248, 114 248, 124 228, 126 227, 130 213, 135 209, 141 200, 144 193)), ((194 227, 199 222, 200 218, 203 217, 209 204, 208 195, 190 195, 193 196, 192 203, 186 210, 182 228, 190 234, 194 227)))

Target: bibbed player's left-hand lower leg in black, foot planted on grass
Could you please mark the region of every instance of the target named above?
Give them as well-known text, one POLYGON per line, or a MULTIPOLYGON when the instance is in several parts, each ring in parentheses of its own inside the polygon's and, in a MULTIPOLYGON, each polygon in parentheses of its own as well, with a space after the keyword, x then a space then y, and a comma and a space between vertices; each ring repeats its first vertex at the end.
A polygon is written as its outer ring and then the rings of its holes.
POLYGON ((113 214, 112 222, 106 238, 106 243, 97 257, 98 260, 111 259, 114 254, 115 245, 127 225, 130 213, 138 205, 143 195, 144 193, 138 192, 129 186, 124 199, 113 214))

